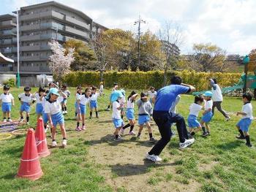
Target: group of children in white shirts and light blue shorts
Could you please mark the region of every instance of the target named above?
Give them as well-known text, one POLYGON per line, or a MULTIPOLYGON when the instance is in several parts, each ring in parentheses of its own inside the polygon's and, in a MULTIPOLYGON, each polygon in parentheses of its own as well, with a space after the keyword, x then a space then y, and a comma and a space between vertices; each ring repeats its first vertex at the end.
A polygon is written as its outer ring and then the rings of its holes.
MULTIPOLYGON (((12 122, 11 119, 11 108, 15 105, 14 97, 10 93, 10 87, 4 85, 4 93, 0 95, 1 110, 3 112, 4 122, 12 122)), ((64 126, 64 114, 67 114, 67 98, 70 95, 70 91, 67 90, 67 85, 62 85, 61 89, 54 83, 49 84, 49 89, 40 87, 39 90, 32 94, 31 88, 25 87, 24 93, 18 95, 20 100, 20 121, 23 121, 23 112, 26 112, 26 123, 29 124, 29 113, 31 111, 31 104, 36 103, 36 113, 37 118, 42 116, 44 121, 45 130, 50 125, 51 137, 53 139, 52 146, 56 147, 56 126, 59 124, 61 128, 61 134, 63 137, 62 145, 67 145, 67 134, 64 126)), ((98 116, 98 106, 97 98, 103 93, 103 83, 100 83, 99 91, 97 87, 91 86, 91 88, 86 88, 83 92, 83 88, 78 86, 75 94, 75 117, 77 120, 76 131, 82 131, 86 129, 85 117, 86 117, 86 105, 89 104, 90 107, 90 118, 92 118, 92 113, 95 110, 96 118, 98 116), (82 126, 80 126, 80 122, 82 126)), ((138 93, 132 91, 125 99, 125 91, 118 90, 118 84, 113 85, 113 90, 110 96, 110 106, 112 105, 112 120, 113 125, 116 128, 115 131, 115 140, 123 140, 121 135, 124 134, 126 128, 129 127, 129 135, 136 135, 133 131, 135 126, 135 104, 138 106, 138 124, 139 130, 137 137, 140 139, 141 132, 143 130, 143 125, 146 125, 148 128, 148 135, 150 142, 156 142, 152 134, 152 129, 150 125, 151 116, 153 113, 154 97, 157 96, 157 91, 153 87, 150 88, 148 93, 140 93, 140 99, 137 99, 138 93), (126 116, 129 123, 124 126, 124 109, 126 107, 126 116)), ((211 99, 211 91, 206 91, 203 96, 195 96, 195 101, 189 106, 189 116, 187 118, 187 123, 189 127, 190 137, 195 137, 195 134, 198 131, 203 131, 202 136, 207 137, 210 135, 210 126, 209 123, 213 116, 212 106, 213 101, 211 99), (204 104, 204 107, 203 107, 204 104), (200 122, 197 120, 200 110, 203 109, 203 117, 200 122)), ((249 138, 249 126, 252 123, 252 93, 247 92, 243 95, 244 106, 242 107, 241 112, 237 112, 237 115, 242 115, 241 120, 236 124, 238 128, 239 135, 236 137, 238 139, 246 139, 246 145, 252 147, 250 138, 249 138)), ((180 99, 180 96, 177 97, 180 99)), ((176 104, 178 101, 175 101, 175 104, 172 106, 172 112, 175 112, 176 104)))

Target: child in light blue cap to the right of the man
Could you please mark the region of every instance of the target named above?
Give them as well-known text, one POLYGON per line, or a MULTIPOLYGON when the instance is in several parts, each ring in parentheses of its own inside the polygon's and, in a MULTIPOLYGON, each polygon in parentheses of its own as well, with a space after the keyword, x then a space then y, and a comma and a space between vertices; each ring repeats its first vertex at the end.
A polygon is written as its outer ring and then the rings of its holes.
POLYGON ((205 106, 204 106, 204 112, 203 112, 203 117, 201 119, 201 126, 202 126, 202 130, 203 130, 203 137, 206 137, 208 135, 210 135, 210 126, 209 123, 211 121, 212 118, 212 105, 213 102, 211 100, 211 96, 212 93, 211 91, 206 91, 206 93, 203 94, 204 98, 205 98, 205 106), (205 127, 206 126, 206 127, 205 127))

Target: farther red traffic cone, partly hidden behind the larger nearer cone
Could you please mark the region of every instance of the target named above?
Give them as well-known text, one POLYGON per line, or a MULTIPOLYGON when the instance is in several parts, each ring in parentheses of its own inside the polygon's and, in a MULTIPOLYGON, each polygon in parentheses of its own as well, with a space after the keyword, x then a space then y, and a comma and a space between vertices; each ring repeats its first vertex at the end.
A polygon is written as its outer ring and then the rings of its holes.
POLYGON ((37 120, 37 128, 34 134, 37 144, 37 153, 40 158, 50 155, 50 150, 48 150, 47 141, 45 137, 45 128, 42 118, 37 120))

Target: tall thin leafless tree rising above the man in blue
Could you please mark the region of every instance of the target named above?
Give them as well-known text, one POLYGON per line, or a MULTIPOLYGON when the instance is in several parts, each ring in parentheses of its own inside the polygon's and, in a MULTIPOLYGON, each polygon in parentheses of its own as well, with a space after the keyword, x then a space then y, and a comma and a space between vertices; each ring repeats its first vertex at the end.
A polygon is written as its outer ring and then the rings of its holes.
POLYGON ((159 30, 159 39, 162 42, 162 52, 165 55, 164 86, 167 84, 167 70, 176 69, 178 64, 178 47, 183 42, 181 28, 178 25, 166 22, 165 27, 159 30))

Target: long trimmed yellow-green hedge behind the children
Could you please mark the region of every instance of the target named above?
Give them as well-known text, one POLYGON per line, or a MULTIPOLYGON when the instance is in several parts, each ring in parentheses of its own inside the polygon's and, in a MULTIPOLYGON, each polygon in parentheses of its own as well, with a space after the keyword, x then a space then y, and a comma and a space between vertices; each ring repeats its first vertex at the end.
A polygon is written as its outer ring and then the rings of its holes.
MULTIPOLYGON (((208 79, 217 78, 218 84, 223 88, 236 84, 241 77, 239 73, 206 73, 195 71, 168 72, 167 82, 170 84, 170 77, 173 74, 181 76, 184 83, 195 85, 197 91, 207 90, 209 88, 208 79)), ((113 82, 118 82, 121 88, 129 89, 147 89, 149 86, 162 88, 164 80, 164 72, 105 72, 104 85, 105 88, 111 88, 113 82)), ((99 85, 99 72, 71 72, 64 77, 63 82, 69 86, 77 85, 99 85)))

